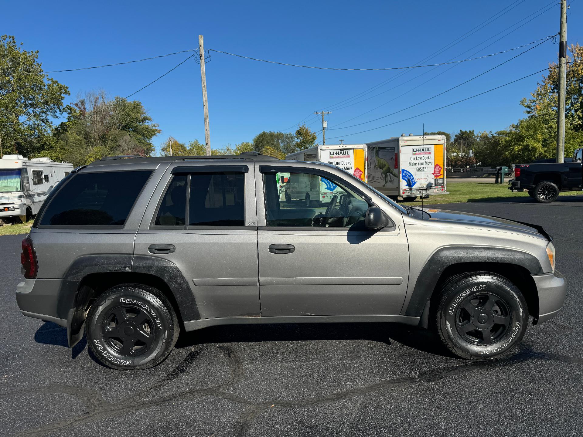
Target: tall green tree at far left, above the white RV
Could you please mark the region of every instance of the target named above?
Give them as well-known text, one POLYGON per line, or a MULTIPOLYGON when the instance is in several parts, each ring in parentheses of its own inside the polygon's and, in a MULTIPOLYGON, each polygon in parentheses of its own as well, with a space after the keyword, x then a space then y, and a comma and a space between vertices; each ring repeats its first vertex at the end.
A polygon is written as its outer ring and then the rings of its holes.
POLYGON ((0 37, 0 140, 3 153, 34 156, 54 146, 52 119, 64 111, 69 89, 43 74, 38 51, 20 46, 0 37))

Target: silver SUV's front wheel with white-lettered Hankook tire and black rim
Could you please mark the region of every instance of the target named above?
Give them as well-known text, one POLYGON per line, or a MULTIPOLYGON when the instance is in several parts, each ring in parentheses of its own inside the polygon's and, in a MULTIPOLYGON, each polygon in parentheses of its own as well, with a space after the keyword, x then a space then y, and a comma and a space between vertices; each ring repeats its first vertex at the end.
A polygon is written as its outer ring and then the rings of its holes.
POLYGON ((455 276, 444 283, 436 327, 444 345, 458 357, 493 360, 518 346, 528 325, 524 296, 496 273, 455 276))

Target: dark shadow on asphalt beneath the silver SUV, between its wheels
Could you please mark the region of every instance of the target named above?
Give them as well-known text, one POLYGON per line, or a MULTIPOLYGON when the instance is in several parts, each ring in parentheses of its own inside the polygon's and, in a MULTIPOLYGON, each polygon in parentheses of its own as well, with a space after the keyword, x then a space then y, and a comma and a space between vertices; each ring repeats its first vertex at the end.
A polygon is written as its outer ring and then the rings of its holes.
POLYGON ((277 323, 210 326, 182 332, 177 348, 205 343, 254 341, 370 340, 403 346, 442 357, 455 358, 431 330, 398 323, 277 323))

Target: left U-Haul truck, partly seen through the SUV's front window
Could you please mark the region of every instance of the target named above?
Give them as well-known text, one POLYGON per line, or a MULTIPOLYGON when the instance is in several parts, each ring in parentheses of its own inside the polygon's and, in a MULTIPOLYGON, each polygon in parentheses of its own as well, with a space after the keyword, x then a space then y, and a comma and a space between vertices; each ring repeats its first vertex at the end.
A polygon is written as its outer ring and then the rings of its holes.
MULTIPOLYGON (((366 182, 366 145, 314 146, 286 156, 291 161, 319 161, 342 168, 342 170, 366 182)), ((307 206, 314 200, 329 202, 333 195, 345 194, 342 189, 327 179, 307 174, 279 174, 280 198, 291 202, 304 200, 307 206)))

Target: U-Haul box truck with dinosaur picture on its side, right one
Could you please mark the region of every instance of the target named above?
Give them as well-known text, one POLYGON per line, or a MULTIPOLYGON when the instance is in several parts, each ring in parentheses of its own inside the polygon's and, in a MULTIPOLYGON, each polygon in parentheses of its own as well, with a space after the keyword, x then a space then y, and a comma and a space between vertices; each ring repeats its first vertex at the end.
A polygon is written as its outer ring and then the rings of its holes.
POLYGON ((445 136, 401 135, 367 143, 367 184, 391 198, 448 194, 445 136))

